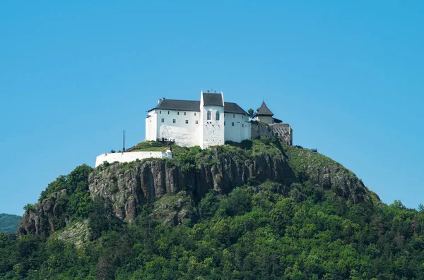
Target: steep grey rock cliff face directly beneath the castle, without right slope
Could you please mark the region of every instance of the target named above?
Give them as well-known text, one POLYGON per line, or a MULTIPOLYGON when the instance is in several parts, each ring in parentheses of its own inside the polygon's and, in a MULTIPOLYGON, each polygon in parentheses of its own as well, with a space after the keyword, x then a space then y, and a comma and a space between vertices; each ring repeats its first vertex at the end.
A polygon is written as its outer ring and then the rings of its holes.
POLYGON ((220 156, 215 150, 207 162, 214 164, 200 163, 196 169, 185 171, 166 160, 134 162, 125 169, 117 163, 100 167, 88 179, 90 194, 110 199, 117 217, 131 221, 138 214, 137 206, 180 190, 197 202, 210 189, 229 193, 249 181, 288 183, 293 179, 284 157, 266 153, 242 161, 236 154, 220 156))

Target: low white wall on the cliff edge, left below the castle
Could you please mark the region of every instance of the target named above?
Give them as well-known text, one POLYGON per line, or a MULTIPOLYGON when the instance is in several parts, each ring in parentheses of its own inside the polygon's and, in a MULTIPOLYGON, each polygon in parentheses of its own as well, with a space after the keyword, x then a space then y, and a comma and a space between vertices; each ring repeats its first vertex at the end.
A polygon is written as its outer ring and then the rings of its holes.
POLYGON ((95 159, 95 167, 103 164, 103 162, 134 162, 136 159, 148 159, 148 158, 160 158, 172 159, 172 152, 167 150, 166 152, 115 152, 110 154, 100 154, 95 159))

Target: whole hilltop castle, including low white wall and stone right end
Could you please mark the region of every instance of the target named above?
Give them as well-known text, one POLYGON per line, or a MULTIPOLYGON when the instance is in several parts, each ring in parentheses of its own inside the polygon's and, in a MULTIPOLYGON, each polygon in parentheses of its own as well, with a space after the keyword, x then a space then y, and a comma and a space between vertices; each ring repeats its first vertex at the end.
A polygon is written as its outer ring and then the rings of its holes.
MULTIPOLYGON (((273 113, 262 102, 250 120, 237 103, 225 102, 223 92, 201 91, 200 101, 159 99, 146 116, 146 140, 171 142, 175 145, 207 147, 224 145, 226 141, 277 137, 293 145, 293 130, 288 123, 273 118, 273 113)), ((131 162, 148 157, 172 157, 167 152, 122 152, 101 154, 95 166, 103 162, 131 162)))

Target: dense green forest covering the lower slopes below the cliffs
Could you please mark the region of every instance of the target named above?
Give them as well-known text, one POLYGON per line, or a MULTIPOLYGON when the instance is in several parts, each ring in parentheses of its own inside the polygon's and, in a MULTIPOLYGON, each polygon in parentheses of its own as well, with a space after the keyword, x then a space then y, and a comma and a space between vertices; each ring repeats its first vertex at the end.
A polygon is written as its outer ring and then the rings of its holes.
POLYGON ((401 202, 354 205, 309 183, 211 192, 196 223, 131 224, 93 203, 82 248, 0 233, 1 279, 424 279, 424 213, 401 202), (299 193, 305 199, 298 201, 299 193))

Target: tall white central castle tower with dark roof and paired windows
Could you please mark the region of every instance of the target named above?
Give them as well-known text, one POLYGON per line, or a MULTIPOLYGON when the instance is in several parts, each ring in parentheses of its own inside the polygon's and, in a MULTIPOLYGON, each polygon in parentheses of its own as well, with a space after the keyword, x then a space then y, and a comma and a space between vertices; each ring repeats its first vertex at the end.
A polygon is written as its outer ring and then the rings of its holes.
POLYGON ((201 92, 200 125, 199 144, 202 149, 225 143, 223 92, 201 92))

